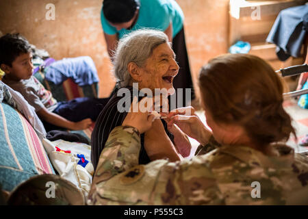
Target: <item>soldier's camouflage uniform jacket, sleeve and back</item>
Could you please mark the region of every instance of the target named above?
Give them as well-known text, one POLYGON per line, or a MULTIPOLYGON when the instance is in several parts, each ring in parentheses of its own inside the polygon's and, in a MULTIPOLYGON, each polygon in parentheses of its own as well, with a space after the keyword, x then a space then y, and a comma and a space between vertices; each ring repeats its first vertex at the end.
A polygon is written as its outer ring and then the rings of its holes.
MULTIPOLYGON (((209 143, 211 145, 212 142, 209 143)), ((246 146, 222 146, 191 160, 138 166, 140 137, 116 127, 101 153, 90 205, 308 205, 308 160, 279 146, 269 157, 246 146), (261 185, 253 198, 251 183, 261 185)))

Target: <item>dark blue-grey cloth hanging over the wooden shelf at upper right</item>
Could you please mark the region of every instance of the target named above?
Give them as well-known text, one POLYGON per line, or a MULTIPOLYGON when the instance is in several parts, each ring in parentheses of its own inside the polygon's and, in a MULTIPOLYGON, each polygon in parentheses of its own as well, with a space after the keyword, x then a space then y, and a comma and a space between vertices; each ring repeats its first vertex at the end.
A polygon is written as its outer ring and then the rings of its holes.
POLYGON ((266 42, 277 45, 279 60, 290 56, 299 57, 300 49, 307 33, 308 5, 287 8, 279 12, 266 42))

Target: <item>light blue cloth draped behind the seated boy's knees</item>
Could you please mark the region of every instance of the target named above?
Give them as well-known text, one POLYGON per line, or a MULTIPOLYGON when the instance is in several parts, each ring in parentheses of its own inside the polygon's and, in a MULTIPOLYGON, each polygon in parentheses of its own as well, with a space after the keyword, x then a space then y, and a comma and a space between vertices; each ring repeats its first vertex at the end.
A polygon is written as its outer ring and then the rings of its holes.
POLYGON ((79 86, 99 82, 97 68, 89 56, 64 58, 46 68, 45 79, 48 81, 60 84, 68 78, 73 79, 79 86))

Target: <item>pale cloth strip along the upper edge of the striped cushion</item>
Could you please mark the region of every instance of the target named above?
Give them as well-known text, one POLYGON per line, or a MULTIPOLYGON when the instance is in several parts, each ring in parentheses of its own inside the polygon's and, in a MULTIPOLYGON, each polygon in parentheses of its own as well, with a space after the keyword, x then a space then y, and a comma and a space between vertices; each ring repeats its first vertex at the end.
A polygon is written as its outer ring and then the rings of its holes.
POLYGON ((5 100, 9 105, 16 108, 28 122, 32 125, 36 133, 38 134, 38 138, 42 140, 42 138, 46 137, 46 130, 44 125, 42 125, 42 121, 38 118, 34 107, 29 105, 29 103, 25 100, 21 93, 13 90, 5 83, 0 81, 0 103, 5 100))

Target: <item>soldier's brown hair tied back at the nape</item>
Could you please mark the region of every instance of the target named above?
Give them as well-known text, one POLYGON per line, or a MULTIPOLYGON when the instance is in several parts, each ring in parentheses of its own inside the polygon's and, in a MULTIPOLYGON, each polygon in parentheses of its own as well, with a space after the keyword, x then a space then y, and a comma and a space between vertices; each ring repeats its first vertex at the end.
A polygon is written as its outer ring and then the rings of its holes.
POLYGON ((209 61, 198 77, 203 104, 216 122, 244 127, 248 137, 264 146, 295 135, 283 109, 283 84, 264 60, 228 54, 209 61))

